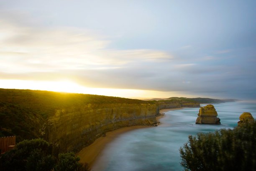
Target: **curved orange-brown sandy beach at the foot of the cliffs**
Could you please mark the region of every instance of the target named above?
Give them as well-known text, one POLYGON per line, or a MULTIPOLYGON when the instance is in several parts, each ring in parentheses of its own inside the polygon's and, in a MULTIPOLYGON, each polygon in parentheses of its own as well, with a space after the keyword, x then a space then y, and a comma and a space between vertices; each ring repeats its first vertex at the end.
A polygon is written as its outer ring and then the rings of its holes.
MULTIPOLYGON (((170 110, 179 110, 179 109, 182 109, 182 108, 161 109, 159 113, 164 113, 170 110)), ((156 122, 158 122, 157 125, 161 125, 161 123, 159 123, 160 122, 159 120, 164 116, 165 115, 156 117, 156 122)), ((117 138, 121 134, 126 133, 128 131, 142 129, 142 128, 149 128, 149 127, 152 127, 152 126, 135 125, 135 126, 119 128, 117 130, 107 132, 105 137, 97 138, 91 145, 82 148, 81 151, 76 153, 76 156, 80 157, 79 162, 88 163, 89 168, 92 168, 93 164, 95 163, 95 161, 100 156, 101 152, 104 150, 104 148, 108 143, 110 143, 115 138, 117 138)))

